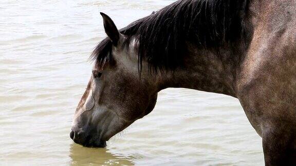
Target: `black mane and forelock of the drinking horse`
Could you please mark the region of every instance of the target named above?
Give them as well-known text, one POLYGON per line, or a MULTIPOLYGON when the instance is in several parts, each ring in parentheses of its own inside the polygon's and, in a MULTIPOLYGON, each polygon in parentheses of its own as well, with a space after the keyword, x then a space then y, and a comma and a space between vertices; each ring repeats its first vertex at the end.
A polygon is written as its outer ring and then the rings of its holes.
MULTIPOLYGON (((186 41, 197 47, 218 48, 244 33, 248 0, 181 0, 120 30, 138 44, 139 66, 145 58, 155 70, 182 65, 186 41)), ((92 53, 103 65, 112 60, 112 42, 105 38, 92 53)))

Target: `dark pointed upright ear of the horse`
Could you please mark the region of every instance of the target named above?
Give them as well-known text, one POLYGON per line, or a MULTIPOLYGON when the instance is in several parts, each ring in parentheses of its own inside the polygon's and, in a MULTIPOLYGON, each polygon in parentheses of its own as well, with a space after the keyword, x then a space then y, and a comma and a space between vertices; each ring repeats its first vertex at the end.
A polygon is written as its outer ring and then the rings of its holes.
POLYGON ((106 15, 105 13, 102 13, 102 12, 101 12, 101 15, 104 20, 104 28, 105 28, 106 34, 111 39, 113 45, 117 46, 118 41, 119 41, 119 37, 120 37, 120 33, 119 33, 118 29, 116 28, 116 25, 114 24, 113 20, 108 15, 106 15))

